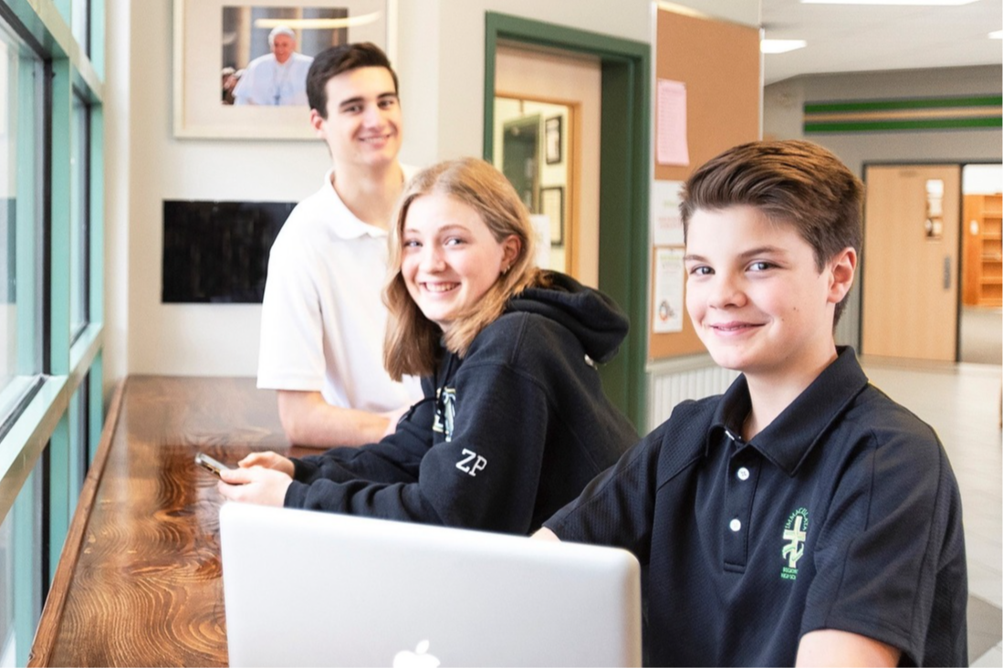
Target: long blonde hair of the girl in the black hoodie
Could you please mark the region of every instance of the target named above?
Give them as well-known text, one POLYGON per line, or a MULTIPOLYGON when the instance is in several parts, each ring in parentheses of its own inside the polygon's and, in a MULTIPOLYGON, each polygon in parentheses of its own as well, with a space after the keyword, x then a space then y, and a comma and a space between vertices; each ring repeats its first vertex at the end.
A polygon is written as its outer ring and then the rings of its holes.
POLYGON ((451 352, 466 355, 473 339, 505 312, 510 299, 529 287, 547 283, 535 264, 535 252, 529 212, 505 176, 487 162, 463 157, 433 164, 415 175, 404 189, 390 230, 390 278, 383 291, 383 302, 390 312, 383 365, 390 377, 400 380, 403 375, 434 373, 439 340, 451 352), (498 243, 511 235, 521 242, 519 256, 509 270, 498 275, 475 305, 457 314, 444 336, 411 299, 401 275, 401 240, 408 210, 417 198, 433 194, 447 195, 473 209, 498 243))

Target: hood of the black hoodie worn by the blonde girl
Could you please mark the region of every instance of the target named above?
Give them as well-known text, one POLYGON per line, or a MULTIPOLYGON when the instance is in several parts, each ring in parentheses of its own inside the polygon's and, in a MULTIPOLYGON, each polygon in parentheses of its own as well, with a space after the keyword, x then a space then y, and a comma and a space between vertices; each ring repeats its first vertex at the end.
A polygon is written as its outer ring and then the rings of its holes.
POLYGON ((527 288, 509 302, 508 311, 536 313, 570 330, 597 362, 608 362, 627 337, 627 316, 607 295, 558 272, 544 272, 547 287, 527 288))

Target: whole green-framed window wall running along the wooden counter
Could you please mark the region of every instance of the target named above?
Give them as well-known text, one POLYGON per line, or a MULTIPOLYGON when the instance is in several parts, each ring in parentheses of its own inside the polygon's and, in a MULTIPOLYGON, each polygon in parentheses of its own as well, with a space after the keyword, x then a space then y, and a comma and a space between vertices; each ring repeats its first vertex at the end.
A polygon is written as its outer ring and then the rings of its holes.
POLYGON ((102 84, 86 55, 91 34, 104 50, 89 21, 103 0, 52 4, 0 0, 0 668, 27 664, 103 413, 102 84))

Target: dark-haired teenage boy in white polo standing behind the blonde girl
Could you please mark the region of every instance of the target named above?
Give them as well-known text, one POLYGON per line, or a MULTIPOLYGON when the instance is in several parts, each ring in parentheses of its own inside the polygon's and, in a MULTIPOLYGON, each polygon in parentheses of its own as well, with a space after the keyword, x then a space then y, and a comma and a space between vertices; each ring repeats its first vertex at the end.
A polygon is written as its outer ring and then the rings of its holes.
POLYGON ((397 161, 397 75, 373 44, 338 46, 314 58, 307 96, 332 170, 272 247, 258 387, 278 390, 292 442, 360 445, 421 397, 416 379, 383 368, 387 226, 410 176, 397 161))

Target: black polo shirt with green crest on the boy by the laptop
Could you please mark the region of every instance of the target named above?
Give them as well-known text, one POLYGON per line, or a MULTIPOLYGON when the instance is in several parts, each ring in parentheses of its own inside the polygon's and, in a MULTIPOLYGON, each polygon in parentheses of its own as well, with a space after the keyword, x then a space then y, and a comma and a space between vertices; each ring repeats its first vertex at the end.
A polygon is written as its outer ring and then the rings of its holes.
POLYGON ((958 485, 933 429, 854 351, 749 442, 745 378, 672 416, 545 526, 643 567, 650 666, 792 666, 839 629, 967 666, 958 485))

